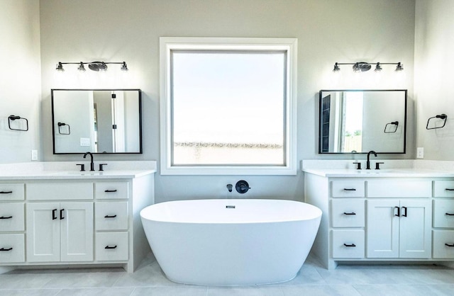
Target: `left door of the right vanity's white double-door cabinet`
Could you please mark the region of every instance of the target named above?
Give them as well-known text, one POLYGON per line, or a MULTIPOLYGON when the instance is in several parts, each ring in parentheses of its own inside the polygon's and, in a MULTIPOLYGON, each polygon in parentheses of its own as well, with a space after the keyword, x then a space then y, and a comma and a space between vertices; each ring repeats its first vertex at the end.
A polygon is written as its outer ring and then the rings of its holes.
POLYGON ((367 258, 399 257, 399 200, 367 200, 367 258))

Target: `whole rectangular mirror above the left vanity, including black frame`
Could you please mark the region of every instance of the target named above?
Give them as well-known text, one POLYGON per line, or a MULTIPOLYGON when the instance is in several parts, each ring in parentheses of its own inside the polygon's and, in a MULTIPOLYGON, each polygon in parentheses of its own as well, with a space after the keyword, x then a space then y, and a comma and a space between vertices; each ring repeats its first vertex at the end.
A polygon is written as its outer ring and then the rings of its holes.
POLYGON ((52 89, 54 154, 142 153, 140 89, 52 89))

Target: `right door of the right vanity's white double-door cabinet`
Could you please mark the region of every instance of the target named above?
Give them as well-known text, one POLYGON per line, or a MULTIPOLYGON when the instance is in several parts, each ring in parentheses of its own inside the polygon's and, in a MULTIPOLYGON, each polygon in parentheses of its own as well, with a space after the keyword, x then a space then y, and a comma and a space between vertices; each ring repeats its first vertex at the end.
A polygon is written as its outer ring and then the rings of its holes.
POLYGON ((400 258, 431 257, 431 200, 400 200, 400 258))

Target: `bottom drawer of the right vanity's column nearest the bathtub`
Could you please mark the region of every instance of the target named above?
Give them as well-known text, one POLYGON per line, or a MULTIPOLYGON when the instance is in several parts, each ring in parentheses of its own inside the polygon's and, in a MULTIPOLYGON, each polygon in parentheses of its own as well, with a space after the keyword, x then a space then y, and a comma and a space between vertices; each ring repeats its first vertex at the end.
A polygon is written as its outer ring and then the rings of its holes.
POLYGON ((364 258, 364 231, 333 230, 333 258, 364 258))

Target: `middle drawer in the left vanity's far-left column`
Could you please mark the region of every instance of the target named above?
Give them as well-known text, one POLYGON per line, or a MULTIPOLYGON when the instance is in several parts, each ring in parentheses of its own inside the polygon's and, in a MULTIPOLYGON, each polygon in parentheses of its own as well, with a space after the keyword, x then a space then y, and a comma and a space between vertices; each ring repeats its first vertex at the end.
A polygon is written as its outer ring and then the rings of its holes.
POLYGON ((24 225, 23 203, 0 204, 0 232, 21 232, 24 225))

